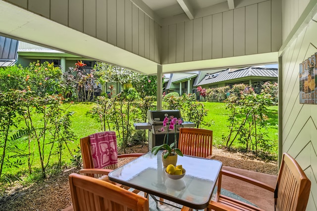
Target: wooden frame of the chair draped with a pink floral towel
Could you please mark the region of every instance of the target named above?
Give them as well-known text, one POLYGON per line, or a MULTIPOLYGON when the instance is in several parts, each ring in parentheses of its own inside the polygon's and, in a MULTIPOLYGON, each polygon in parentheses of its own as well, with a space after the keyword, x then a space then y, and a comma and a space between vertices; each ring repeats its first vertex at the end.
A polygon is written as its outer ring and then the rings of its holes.
MULTIPOLYGON (((114 133, 114 131, 107 131, 109 133, 114 133)), ((98 134, 98 133, 95 133, 98 134)), ((115 140, 116 141, 116 140, 115 140)), ((81 148, 81 155, 83 159, 83 167, 84 169, 80 170, 80 173, 83 173, 88 176, 93 176, 96 178, 101 177, 103 174, 107 175, 111 170, 116 169, 117 163, 109 165, 104 167, 103 169, 96 169, 93 161, 93 155, 92 155, 92 150, 91 150, 91 145, 90 145, 90 136, 86 136, 84 138, 80 138, 80 148, 81 148)), ((117 155, 117 158, 137 158, 140 157, 144 154, 142 153, 131 153, 131 154, 122 154, 122 155, 117 155)))

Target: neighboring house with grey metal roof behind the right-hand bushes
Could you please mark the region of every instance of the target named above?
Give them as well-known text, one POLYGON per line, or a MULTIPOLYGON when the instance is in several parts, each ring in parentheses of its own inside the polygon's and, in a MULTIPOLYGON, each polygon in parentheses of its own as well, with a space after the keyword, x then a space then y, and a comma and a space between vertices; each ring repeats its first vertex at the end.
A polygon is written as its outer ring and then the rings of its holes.
POLYGON ((259 87, 267 81, 277 83, 277 77, 278 70, 276 68, 228 68, 220 72, 206 74, 203 80, 195 84, 195 87, 215 88, 234 84, 249 84, 253 87, 259 87))

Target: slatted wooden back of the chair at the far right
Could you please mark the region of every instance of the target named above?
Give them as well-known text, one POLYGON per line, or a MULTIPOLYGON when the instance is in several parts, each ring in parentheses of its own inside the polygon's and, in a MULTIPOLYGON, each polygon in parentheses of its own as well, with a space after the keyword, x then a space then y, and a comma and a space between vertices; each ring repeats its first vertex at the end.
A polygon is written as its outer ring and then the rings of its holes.
POLYGON ((311 181, 299 164, 283 154, 275 194, 276 211, 304 211, 310 195, 311 181))

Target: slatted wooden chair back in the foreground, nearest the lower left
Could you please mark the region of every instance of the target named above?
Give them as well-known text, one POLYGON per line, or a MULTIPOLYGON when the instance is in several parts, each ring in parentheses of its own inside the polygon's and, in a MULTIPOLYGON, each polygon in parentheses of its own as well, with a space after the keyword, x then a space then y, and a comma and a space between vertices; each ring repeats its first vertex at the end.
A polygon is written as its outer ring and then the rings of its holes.
POLYGON ((149 201, 109 182, 72 173, 69 175, 74 211, 149 211, 149 201))

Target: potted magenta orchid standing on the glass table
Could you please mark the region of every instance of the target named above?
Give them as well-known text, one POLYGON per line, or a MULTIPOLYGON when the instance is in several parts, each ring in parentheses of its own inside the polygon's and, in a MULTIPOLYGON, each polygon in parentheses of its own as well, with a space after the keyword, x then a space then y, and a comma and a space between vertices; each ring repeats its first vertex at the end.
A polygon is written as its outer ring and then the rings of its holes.
MULTIPOLYGON (((159 145, 159 146, 155 146, 152 148, 151 152, 154 154, 154 155, 157 155, 159 150, 160 149, 164 149, 165 151, 162 153, 162 160, 163 159, 169 159, 169 157, 174 157, 174 159, 176 158, 176 161, 174 163, 174 166, 176 165, 176 162, 177 162, 177 155, 179 156, 183 156, 183 153, 180 151, 180 149, 176 148, 176 143, 177 143, 177 140, 176 140, 176 125, 181 125, 183 122, 182 120, 179 118, 177 119, 176 117, 174 116, 169 116, 167 114, 164 115, 165 118, 163 120, 163 127, 161 128, 161 131, 164 131, 164 127, 167 127, 167 132, 165 134, 165 137, 164 137, 164 142, 162 145, 159 145), (168 145, 168 131, 169 130, 175 130, 174 132, 174 142, 171 143, 170 145, 168 145)), ((163 160, 163 164, 164 164, 164 160, 163 160)), ((167 165, 167 164, 166 164, 167 165)), ((165 164, 164 164, 164 167, 165 164)))

